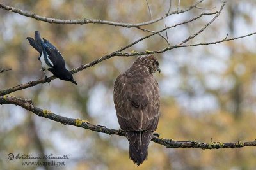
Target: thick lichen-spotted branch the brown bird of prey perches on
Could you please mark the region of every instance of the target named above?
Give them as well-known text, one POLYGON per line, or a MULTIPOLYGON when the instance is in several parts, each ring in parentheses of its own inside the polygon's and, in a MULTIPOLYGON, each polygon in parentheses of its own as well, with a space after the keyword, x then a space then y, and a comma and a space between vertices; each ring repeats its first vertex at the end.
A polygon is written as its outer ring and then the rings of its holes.
MULTIPOLYGON (((116 129, 109 129, 104 126, 100 125, 93 125, 90 124, 87 120, 81 120, 79 118, 68 118, 62 117, 60 115, 56 115, 48 110, 42 110, 41 108, 37 108, 31 103, 31 100, 28 99, 20 99, 13 96, 3 96, 0 97, 0 104, 14 104, 18 105, 36 115, 44 118, 48 118, 55 122, 60 122, 64 125, 73 125, 76 127, 82 127, 84 129, 88 129, 95 132, 101 132, 109 135, 118 135, 118 136, 125 136, 124 131, 116 130, 116 129)), ((211 143, 204 143, 198 141, 175 141, 173 139, 163 139, 160 138, 158 134, 154 134, 152 141, 158 143, 160 145, 166 146, 166 148, 200 148, 200 149, 220 149, 220 148, 242 148, 244 146, 256 146, 255 141, 237 141, 237 142, 230 142, 230 143, 221 143, 221 142, 211 142, 211 143)))

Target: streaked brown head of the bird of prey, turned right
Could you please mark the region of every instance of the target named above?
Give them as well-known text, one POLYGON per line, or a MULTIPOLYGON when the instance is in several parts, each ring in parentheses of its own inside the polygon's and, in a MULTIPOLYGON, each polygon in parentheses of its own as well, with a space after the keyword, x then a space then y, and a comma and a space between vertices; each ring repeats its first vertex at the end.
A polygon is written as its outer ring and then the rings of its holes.
POLYGON ((153 74, 156 71, 159 71, 159 73, 161 72, 161 69, 159 68, 159 62, 153 55, 140 56, 136 59, 134 64, 141 64, 146 66, 150 74, 153 74))

